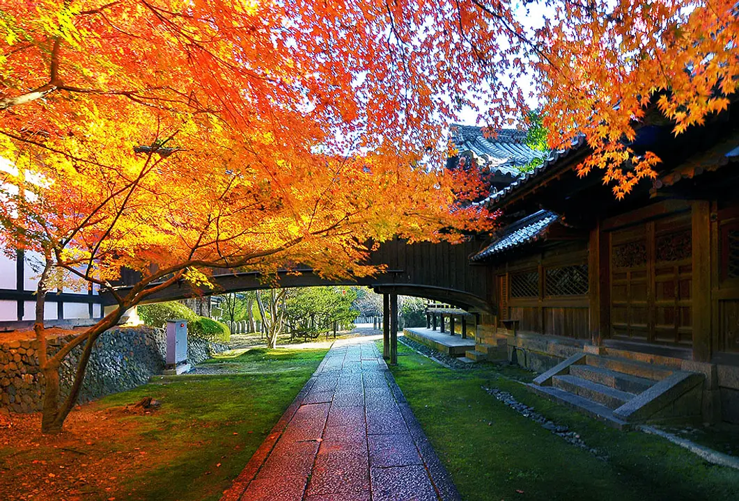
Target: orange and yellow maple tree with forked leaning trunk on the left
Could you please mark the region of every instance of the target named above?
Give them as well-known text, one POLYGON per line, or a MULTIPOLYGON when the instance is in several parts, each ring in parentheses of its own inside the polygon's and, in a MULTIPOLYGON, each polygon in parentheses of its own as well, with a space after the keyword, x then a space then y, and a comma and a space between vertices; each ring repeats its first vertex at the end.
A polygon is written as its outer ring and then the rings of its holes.
POLYGON ((291 30, 285 16, 219 1, 42 0, 2 13, 0 156, 12 166, 0 238, 41 255, 45 432, 75 404, 95 339, 179 280, 207 288, 212 268, 270 276, 297 263, 362 276, 375 272, 367 242, 454 240, 440 229, 489 224, 457 203, 454 173, 410 147, 440 126, 436 107, 401 110, 400 89, 356 89, 348 49, 334 60, 327 41, 309 43, 313 21, 291 30), (119 291, 124 268, 140 276, 119 291), (47 354, 46 295, 75 280, 115 308, 47 354), (78 346, 62 395, 58 369, 78 346))

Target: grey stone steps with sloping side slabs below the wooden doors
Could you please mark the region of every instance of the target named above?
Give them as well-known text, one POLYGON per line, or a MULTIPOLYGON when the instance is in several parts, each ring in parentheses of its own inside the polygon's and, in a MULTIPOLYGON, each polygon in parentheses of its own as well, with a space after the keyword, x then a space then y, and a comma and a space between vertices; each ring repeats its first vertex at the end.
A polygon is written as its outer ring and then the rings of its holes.
POLYGON ((705 376, 681 370, 681 359, 585 349, 528 386, 619 429, 647 422, 700 420, 705 376))

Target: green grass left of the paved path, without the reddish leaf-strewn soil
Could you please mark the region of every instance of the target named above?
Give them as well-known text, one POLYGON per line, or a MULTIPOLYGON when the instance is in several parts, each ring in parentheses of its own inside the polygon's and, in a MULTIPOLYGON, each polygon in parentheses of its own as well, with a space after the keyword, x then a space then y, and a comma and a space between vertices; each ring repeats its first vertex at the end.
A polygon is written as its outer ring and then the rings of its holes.
POLYGON ((117 498, 218 500, 326 352, 251 350, 225 362, 243 374, 164 377, 103 398, 97 404, 103 409, 147 395, 162 402, 151 415, 124 418, 139 421, 141 447, 160 457, 153 467, 122 480, 117 498))

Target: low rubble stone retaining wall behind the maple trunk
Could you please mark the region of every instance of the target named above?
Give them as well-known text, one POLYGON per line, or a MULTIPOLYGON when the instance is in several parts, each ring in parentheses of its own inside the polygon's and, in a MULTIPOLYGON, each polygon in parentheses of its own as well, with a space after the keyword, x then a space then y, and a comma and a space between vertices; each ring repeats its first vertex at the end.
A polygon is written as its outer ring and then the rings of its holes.
MULTIPOLYGON (((49 356, 66 345, 74 335, 47 341, 49 356)), ((82 346, 73 349, 60 369, 62 395, 69 393, 74 380, 82 346)), ((211 353, 225 349, 203 339, 188 339, 188 360, 197 364, 211 353)), ((44 397, 44 375, 38 368, 34 340, 11 341, 0 345, 0 407, 13 412, 41 410, 44 397)), ((113 328, 95 342, 90 355, 79 403, 103 395, 130 390, 145 384, 151 376, 161 373, 165 365, 166 339, 162 329, 149 327, 113 328)))

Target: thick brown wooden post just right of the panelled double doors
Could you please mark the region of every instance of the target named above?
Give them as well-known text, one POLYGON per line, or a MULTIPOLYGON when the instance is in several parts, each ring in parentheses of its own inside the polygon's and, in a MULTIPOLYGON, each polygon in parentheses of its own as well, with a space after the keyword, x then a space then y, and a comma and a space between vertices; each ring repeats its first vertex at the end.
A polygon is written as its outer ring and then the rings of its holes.
POLYGON ((711 221, 710 205, 692 205, 692 331, 693 360, 711 361, 711 221))

